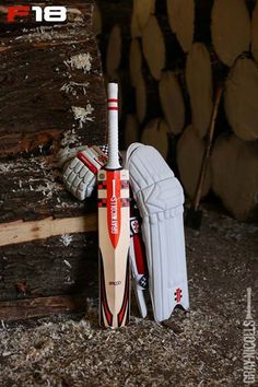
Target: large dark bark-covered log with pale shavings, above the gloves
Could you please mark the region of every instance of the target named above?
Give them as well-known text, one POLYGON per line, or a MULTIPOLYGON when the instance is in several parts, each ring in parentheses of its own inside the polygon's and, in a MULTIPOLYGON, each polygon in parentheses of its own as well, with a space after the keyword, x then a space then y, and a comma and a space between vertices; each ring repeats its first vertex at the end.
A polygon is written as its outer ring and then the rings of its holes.
POLYGON ((80 23, 32 30, 22 23, 2 34, 1 157, 39 153, 39 146, 49 149, 67 130, 75 130, 77 144, 104 140, 105 94, 91 21, 90 3, 80 23), (84 112, 81 120, 74 107, 84 112))

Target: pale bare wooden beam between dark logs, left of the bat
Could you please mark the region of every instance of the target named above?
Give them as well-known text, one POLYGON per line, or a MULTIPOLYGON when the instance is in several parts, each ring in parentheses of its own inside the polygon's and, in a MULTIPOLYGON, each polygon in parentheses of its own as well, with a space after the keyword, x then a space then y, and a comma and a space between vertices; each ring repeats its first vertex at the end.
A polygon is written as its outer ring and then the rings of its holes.
POLYGON ((89 233, 97 230, 96 213, 78 218, 24 222, 22 220, 0 224, 0 246, 46 239, 63 234, 89 233))

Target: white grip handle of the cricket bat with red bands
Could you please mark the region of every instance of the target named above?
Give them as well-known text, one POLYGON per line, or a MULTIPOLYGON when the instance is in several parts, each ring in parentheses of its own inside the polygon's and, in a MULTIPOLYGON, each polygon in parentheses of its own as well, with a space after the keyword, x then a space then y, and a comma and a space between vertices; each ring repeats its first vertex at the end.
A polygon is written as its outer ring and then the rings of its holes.
POLYGON ((107 169, 119 169, 118 150, 118 84, 108 83, 107 86, 107 108, 108 108, 108 163, 107 169))

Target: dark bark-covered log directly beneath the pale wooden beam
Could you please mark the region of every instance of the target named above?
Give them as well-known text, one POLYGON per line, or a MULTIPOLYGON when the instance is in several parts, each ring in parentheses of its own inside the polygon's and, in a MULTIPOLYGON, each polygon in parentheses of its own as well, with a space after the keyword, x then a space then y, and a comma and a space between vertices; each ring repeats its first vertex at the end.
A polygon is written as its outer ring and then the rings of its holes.
POLYGON ((0 247, 0 301, 89 291, 97 279, 96 233, 0 247))

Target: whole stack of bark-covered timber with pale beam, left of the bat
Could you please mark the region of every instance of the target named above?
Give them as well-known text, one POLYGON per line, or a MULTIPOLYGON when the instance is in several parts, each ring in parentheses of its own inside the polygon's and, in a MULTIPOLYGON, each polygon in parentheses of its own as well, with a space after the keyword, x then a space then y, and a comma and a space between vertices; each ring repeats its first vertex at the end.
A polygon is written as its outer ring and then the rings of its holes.
POLYGON ((64 190, 55 157, 105 141, 104 80, 92 1, 61 4, 50 26, 0 9, 0 319, 82 307, 97 257, 95 201, 64 190))

